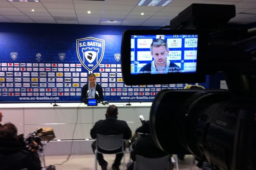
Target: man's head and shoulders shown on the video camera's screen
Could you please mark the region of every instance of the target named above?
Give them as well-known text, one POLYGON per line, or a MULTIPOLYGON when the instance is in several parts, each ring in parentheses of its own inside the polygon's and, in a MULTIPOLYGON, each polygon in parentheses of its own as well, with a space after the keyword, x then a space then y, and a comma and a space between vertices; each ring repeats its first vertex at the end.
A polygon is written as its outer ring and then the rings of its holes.
POLYGON ((154 60, 144 65, 140 72, 151 74, 165 74, 180 72, 180 67, 167 60, 169 48, 167 42, 161 38, 155 39, 150 45, 150 53, 154 60))

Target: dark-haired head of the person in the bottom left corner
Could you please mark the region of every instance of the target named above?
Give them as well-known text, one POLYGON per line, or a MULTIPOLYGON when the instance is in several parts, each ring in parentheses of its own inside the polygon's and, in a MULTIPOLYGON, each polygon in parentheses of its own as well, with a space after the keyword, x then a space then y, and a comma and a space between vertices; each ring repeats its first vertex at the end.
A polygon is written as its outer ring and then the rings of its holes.
POLYGON ((17 133, 17 127, 10 122, 0 127, 0 139, 17 139, 17 133))

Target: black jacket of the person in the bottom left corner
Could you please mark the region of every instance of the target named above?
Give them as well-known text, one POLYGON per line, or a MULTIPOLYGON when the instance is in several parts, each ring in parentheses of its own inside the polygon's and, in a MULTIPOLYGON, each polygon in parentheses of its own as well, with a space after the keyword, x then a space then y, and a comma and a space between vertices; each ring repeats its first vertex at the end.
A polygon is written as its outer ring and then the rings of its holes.
POLYGON ((41 170, 38 153, 26 150, 16 139, 0 139, 0 170, 41 170))

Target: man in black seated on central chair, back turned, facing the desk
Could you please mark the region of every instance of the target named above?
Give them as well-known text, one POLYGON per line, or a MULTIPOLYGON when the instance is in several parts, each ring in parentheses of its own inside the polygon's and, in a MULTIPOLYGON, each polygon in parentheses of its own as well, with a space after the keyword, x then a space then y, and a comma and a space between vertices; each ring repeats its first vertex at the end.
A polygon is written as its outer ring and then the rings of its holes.
MULTIPOLYGON (((96 134, 102 135, 119 135, 123 134, 124 139, 130 139, 131 129, 128 124, 123 120, 117 120, 118 110, 115 105, 110 105, 106 111, 106 119, 99 120, 95 123, 90 131, 90 135, 93 139, 96 138, 96 134)), ((96 141, 92 144, 93 152, 96 149, 96 141)), ((122 160, 122 153, 116 154, 116 159, 112 165, 113 170, 119 170, 120 162, 122 160)), ((97 159, 102 170, 107 170, 108 162, 104 160, 103 155, 98 153, 97 159)))

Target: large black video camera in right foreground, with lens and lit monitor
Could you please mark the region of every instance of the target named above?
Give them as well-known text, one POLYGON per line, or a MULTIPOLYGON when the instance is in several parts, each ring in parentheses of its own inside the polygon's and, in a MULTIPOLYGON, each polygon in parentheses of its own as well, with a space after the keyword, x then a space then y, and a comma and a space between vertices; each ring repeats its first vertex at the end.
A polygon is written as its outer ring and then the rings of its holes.
POLYGON ((122 75, 126 85, 149 85, 200 83, 223 72, 228 91, 160 91, 151 106, 151 134, 167 153, 193 154, 216 170, 255 170, 256 29, 227 24, 235 15, 233 5, 192 4, 169 30, 126 30, 122 75), (167 58, 179 72, 140 71, 152 67, 149 46, 157 38, 168 43, 167 58))

